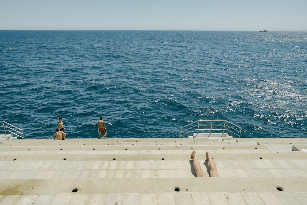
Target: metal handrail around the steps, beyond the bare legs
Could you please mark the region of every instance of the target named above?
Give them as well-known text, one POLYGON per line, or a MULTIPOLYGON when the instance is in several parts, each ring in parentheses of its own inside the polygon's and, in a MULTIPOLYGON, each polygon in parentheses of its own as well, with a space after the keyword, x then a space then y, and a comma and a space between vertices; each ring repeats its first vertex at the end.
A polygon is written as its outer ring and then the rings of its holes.
POLYGON ((227 121, 227 120, 197 120, 192 122, 186 126, 181 127, 180 129, 180 138, 188 133, 194 132, 197 130, 197 134, 199 131, 210 130, 210 134, 212 131, 221 131, 223 130, 223 134, 225 131, 228 131, 234 135, 237 135, 239 138, 241 137, 242 128, 227 121), (196 124, 197 122, 197 124, 196 124), (207 124, 202 124, 202 122, 207 122, 207 124), (210 124, 208 122, 211 122, 210 124), (213 122, 223 122, 223 124, 214 124, 213 122), (229 125, 230 124, 230 125, 229 125), (197 126, 197 129, 195 128, 197 126), (202 126, 210 126, 210 129, 200 129, 202 126), (212 127, 223 126, 223 129, 212 129, 212 127), (195 128, 195 129, 194 129, 195 128))

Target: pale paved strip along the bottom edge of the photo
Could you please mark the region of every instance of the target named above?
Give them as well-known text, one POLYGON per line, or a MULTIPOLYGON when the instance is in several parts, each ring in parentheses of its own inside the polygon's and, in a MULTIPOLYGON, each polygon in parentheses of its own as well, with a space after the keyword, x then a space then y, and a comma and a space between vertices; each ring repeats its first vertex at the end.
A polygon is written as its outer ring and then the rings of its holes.
MULTIPOLYGON (((73 189, 75 190, 75 188, 73 189)), ((182 192, 164 193, 93 193, 77 192, 44 195, 0 195, 2 204, 123 204, 123 205, 197 205, 197 204, 306 204, 305 192, 182 192)))

